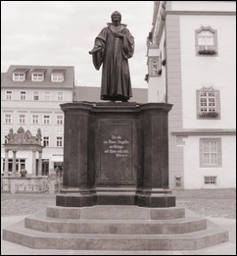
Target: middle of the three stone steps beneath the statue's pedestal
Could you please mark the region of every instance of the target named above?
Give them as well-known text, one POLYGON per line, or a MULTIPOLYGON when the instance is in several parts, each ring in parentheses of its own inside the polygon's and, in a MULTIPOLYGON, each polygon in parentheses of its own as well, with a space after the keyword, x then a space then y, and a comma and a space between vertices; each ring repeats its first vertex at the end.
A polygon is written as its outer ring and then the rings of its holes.
POLYGON ((176 220, 66 220, 31 215, 24 219, 31 230, 59 233, 169 234, 207 229, 207 220, 199 217, 176 220))

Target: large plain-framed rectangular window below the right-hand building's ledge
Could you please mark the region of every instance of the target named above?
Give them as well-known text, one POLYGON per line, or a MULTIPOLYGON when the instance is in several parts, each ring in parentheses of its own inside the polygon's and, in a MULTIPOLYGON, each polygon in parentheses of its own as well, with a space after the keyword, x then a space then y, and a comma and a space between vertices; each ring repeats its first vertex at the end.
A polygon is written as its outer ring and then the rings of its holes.
POLYGON ((200 138, 200 167, 221 166, 220 138, 200 138))

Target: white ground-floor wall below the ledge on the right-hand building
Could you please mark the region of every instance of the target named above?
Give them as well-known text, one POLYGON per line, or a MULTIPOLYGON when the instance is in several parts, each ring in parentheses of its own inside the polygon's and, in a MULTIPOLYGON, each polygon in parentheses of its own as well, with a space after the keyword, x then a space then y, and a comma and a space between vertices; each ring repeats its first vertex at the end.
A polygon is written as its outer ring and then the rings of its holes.
MULTIPOLYGON (((211 137, 211 136, 202 136, 211 137)), ((215 136, 212 136, 215 137, 215 136)), ((221 137, 221 136, 216 136, 221 137)), ((211 187, 204 184, 204 176, 217 176, 217 184, 213 187, 236 187, 236 142, 233 136, 221 137, 221 167, 200 168, 199 155, 200 136, 184 138, 184 188, 195 189, 211 187)))

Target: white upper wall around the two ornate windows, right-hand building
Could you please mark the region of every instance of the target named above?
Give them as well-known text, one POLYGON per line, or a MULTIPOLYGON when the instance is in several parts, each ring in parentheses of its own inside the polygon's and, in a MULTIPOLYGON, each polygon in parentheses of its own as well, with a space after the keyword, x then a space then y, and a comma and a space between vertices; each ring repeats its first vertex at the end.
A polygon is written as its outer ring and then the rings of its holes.
POLYGON ((235 17, 181 16, 180 35, 183 128, 235 128, 235 17), (195 29, 201 26, 211 26, 217 30, 217 57, 196 56, 195 29), (213 88, 219 89, 220 120, 196 119, 196 89, 203 86, 213 86, 213 88))

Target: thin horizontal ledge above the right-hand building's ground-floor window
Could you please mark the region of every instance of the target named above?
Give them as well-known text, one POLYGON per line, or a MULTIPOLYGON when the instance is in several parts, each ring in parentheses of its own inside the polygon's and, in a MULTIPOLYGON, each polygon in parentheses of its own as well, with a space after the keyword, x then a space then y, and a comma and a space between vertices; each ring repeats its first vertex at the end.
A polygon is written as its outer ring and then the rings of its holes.
POLYGON ((171 135, 236 135, 235 128, 184 128, 181 130, 171 131, 171 135))

